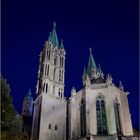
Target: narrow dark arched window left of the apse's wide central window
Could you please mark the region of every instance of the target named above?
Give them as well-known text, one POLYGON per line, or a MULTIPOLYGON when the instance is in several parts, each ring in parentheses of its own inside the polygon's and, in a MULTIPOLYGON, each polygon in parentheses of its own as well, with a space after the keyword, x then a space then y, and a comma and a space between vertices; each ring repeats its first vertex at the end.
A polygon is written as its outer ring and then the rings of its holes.
POLYGON ((82 99, 80 107, 80 118, 81 118, 81 136, 86 135, 86 104, 85 100, 82 99))

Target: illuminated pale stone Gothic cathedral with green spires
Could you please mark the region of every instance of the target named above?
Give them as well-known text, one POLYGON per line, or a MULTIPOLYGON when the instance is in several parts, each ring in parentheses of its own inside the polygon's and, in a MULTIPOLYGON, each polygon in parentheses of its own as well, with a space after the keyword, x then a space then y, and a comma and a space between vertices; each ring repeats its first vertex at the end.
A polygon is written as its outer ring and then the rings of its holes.
POLYGON ((133 129, 122 83, 117 87, 104 75, 89 49, 83 88, 72 88, 66 99, 65 59, 54 23, 40 53, 31 140, 129 140, 133 129))

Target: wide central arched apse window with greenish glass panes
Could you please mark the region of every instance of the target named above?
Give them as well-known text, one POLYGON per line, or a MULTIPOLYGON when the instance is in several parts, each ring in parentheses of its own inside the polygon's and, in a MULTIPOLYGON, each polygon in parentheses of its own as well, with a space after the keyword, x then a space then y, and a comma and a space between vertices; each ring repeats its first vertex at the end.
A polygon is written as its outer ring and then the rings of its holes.
POLYGON ((96 100, 96 115, 97 115, 97 133, 107 134, 105 102, 102 97, 98 97, 96 100))

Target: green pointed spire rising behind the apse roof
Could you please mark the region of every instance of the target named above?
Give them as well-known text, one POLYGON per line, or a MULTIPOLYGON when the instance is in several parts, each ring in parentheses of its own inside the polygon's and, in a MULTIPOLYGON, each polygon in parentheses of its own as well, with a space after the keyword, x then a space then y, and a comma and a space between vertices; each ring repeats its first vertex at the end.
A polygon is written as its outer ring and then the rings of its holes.
POLYGON ((96 63, 94 61, 94 58, 93 58, 93 55, 92 55, 92 49, 89 48, 89 61, 88 61, 88 68, 87 68, 87 72, 90 72, 92 69, 96 69, 97 66, 96 66, 96 63))

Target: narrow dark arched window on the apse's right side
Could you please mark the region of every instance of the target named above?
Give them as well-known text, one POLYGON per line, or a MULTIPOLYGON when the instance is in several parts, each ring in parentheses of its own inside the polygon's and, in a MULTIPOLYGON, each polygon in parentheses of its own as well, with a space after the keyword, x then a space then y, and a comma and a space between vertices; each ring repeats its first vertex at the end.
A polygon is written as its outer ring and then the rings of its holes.
POLYGON ((121 133, 121 121, 120 121, 120 104, 117 102, 114 102, 114 111, 115 111, 115 120, 116 120, 116 128, 117 133, 121 133))

